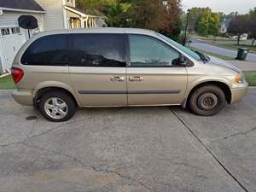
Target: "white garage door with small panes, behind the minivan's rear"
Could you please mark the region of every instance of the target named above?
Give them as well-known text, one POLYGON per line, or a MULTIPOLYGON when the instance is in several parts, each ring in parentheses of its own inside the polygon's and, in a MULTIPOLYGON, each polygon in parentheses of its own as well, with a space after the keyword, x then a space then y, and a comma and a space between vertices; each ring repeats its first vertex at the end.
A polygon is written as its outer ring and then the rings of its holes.
POLYGON ((21 45, 25 43, 25 35, 20 32, 19 26, 1 27, 2 46, 4 52, 4 66, 6 69, 12 66, 15 55, 21 45))

